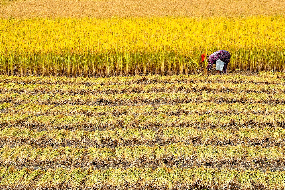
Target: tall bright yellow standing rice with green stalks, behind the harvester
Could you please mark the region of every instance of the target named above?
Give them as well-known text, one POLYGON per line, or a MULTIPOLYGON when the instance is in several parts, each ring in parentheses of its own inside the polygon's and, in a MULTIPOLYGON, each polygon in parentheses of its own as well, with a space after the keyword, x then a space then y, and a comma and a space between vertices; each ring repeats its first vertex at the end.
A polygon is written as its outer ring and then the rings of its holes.
POLYGON ((284 22, 283 16, 2 18, 0 73, 187 75, 205 66, 201 53, 219 49, 231 52, 229 69, 285 71, 284 22))

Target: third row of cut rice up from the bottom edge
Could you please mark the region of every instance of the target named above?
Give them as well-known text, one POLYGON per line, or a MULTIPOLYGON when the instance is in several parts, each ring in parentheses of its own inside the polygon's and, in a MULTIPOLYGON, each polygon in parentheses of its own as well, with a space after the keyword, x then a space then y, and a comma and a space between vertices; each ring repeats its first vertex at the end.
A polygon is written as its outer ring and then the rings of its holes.
MULTIPOLYGON (((39 128, 41 129, 41 128, 39 128)), ((0 130, 0 142, 4 145, 36 144, 52 146, 117 146, 124 144, 193 143, 204 145, 259 144, 284 145, 285 129, 270 128, 218 128, 202 129, 166 127, 163 129, 113 129, 86 131, 84 129, 55 129, 40 131, 18 127, 0 130)))

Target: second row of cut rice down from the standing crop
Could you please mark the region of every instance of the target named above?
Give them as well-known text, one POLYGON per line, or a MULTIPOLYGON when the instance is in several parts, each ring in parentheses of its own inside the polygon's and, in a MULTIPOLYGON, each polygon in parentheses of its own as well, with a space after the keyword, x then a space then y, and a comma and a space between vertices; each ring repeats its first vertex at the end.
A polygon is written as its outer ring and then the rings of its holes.
POLYGON ((122 93, 190 93, 190 92, 232 92, 232 93, 284 93, 281 84, 253 84, 253 83, 175 83, 175 84, 114 84, 114 85, 69 85, 69 84, 17 84, 0 83, 0 93, 27 94, 122 94, 122 93))

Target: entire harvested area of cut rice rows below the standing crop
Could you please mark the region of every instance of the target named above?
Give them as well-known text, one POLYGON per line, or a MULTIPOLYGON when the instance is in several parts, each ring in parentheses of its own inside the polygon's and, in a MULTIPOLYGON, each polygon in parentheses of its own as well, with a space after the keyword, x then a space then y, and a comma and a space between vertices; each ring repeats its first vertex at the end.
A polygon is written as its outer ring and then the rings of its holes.
POLYGON ((284 78, 0 75, 0 188, 284 189, 284 78))

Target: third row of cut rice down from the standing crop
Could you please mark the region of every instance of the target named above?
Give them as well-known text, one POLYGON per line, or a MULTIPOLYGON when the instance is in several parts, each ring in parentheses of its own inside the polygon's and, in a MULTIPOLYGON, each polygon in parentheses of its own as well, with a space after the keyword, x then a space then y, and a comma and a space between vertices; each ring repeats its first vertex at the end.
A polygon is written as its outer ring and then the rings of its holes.
POLYGON ((154 103, 190 103, 190 102, 213 102, 213 103, 275 103, 284 104, 285 94, 266 93, 140 93, 140 94, 0 94, 0 103, 9 102, 12 104, 97 104, 97 105, 121 105, 121 104, 154 104, 154 103))

